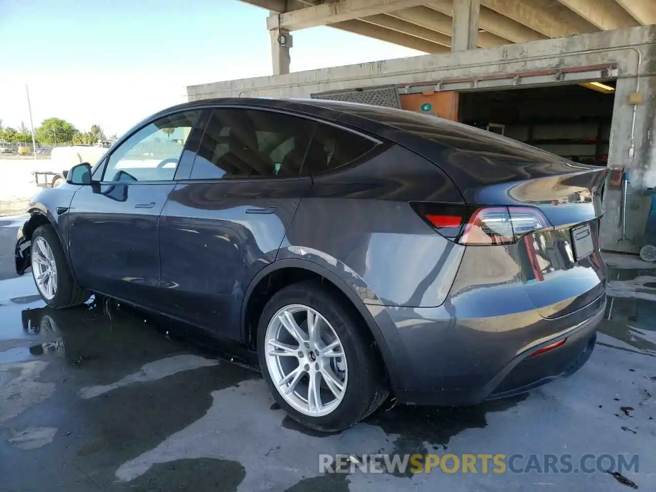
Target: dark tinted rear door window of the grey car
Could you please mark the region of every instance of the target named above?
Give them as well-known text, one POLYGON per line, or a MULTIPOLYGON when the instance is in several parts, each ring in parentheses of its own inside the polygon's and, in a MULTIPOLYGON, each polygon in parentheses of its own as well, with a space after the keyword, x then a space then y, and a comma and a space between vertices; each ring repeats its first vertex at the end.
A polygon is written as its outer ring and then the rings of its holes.
POLYGON ((192 179, 298 176, 313 121, 258 110, 215 110, 194 161, 192 179))

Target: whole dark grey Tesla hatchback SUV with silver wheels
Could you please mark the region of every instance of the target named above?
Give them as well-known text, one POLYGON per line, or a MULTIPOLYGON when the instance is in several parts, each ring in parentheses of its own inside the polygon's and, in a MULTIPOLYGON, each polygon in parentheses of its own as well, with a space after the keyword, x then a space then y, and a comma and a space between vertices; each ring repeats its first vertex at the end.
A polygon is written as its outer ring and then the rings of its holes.
POLYGON ((438 117, 190 102, 29 205, 16 270, 256 350, 291 417, 468 405, 576 371, 604 312, 605 169, 438 117))

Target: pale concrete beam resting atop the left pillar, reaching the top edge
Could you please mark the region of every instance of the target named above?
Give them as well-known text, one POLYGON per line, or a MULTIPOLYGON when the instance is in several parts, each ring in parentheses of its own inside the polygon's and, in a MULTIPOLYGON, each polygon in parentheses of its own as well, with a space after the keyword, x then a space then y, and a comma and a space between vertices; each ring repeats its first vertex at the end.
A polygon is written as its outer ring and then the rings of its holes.
POLYGON ((328 26, 346 20, 386 14, 395 10, 417 7, 426 0, 338 0, 305 7, 304 9, 270 16, 267 19, 269 29, 286 29, 298 31, 316 26, 328 26))

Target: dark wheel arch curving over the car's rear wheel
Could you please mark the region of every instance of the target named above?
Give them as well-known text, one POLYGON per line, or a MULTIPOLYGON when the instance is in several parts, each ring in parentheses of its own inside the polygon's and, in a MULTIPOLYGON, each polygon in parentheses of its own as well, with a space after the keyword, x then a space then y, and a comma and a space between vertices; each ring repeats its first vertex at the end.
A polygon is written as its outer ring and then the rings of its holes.
POLYGON ((371 312, 367 309, 367 306, 358 297, 358 294, 346 282, 340 279, 337 274, 309 260, 298 258, 276 260, 258 272, 249 284, 241 304, 241 340, 249 348, 256 348, 257 324, 268 299, 286 285, 309 279, 320 279, 322 282, 327 283, 329 289, 349 301, 350 306, 365 323, 369 333, 373 337, 390 382, 394 384, 394 380, 396 379, 396 363, 392 357, 386 338, 382 334, 371 312), (281 277, 289 278, 285 274, 291 274, 292 281, 279 283, 277 279, 281 277), (269 289, 272 283, 274 284, 273 289, 269 289), (258 296, 258 293, 262 292, 266 292, 266 294, 262 297, 258 296))

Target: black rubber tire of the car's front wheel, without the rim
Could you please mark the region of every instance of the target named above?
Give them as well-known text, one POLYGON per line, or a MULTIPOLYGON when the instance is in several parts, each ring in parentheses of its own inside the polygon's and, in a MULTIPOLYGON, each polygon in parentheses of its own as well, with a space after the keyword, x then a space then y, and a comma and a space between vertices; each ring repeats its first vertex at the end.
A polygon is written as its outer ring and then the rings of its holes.
MULTIPOLYGON (((66 255, 64 255, 64 249, 62 248, 59 236, 57 236, 54 228, 51 225, 37 227, 32 234, 30 246, 32 250, 30 251, 30 255, 33 254, 33 248, 35 247, 34 240, 37 237, 42 237, 48 243, 52 250, 54 263, 57 269, 57 287, 55 295, 52 299, 47 299, 42 295, 41 297, 45 300, 45 303, 51 306, 51 308, 60 309, 68 308, 70 306, 78 306, 79 304, 86 302, 90 297, 89 291, 81 289, 79 285, 77 285, 75 279, 73 279, 70 266, 66 260, 66 255)), ((33 272, 32 277, 34 277, 33 272)), ((38 286, 37 290, 39 290, 38 286)))

